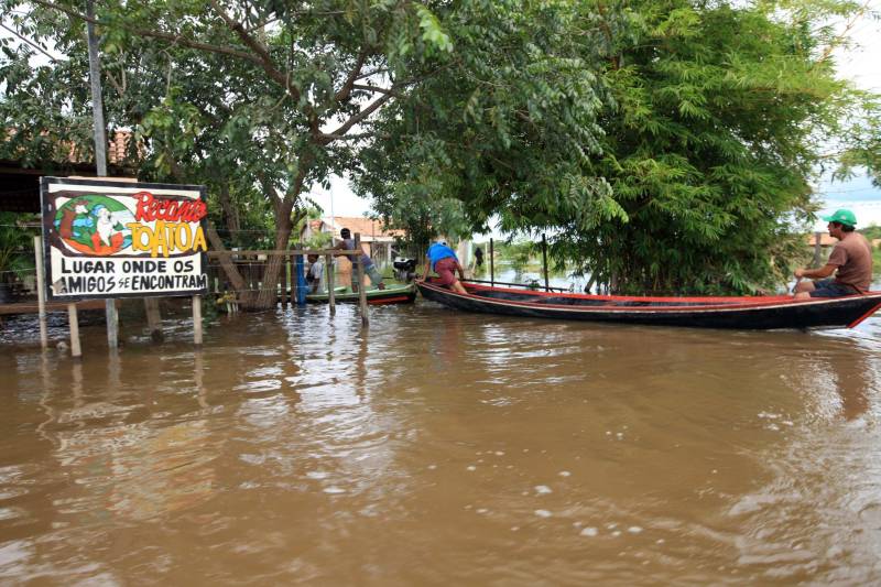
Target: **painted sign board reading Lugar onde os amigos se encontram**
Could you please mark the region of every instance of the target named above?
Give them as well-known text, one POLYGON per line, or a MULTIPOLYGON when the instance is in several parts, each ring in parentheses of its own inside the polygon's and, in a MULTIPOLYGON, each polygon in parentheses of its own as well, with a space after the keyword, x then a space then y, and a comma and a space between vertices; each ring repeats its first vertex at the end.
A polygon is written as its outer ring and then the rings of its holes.
POLYGON ((40 194, 50 300, 208 292, 204 186, 43 177, 40 194))

